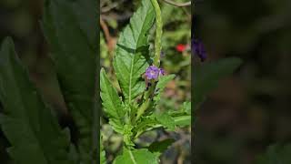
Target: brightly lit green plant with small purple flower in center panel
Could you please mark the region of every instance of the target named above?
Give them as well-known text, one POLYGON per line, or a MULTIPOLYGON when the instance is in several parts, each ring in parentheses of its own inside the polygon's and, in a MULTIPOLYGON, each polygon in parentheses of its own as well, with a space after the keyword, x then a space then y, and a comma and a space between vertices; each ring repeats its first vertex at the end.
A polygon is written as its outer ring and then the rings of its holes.
POLYGON ((123 152, 114 163, 158 163, 158 157, 174 140, 155 142, 147 148, 135 149, 135 139, 154 128, 175 130, 191 122, 191 103, 177 111, 158 112, 156 106, 166 84, 175 75, 164 75, 160 66, 162 15, 156 0, 143 0, 120 34, 113 61, 121 95, 105 74, 100 72, 103 111, 115 132, 123 136, 123 152), (156 21, 155 21, 156 19, 156 21), (156 22, 155 55, 149 52, 149 31, 156 22), (144 75, 144 76, 143 76, 144 75))

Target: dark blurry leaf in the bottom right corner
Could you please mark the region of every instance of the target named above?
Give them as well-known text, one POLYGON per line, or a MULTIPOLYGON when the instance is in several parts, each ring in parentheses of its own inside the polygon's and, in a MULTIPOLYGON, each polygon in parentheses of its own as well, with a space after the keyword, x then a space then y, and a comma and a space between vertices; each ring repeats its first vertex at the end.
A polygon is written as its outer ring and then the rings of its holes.
POLYGON ((289 164, 291 163, 291 144, 270 146, 266 154, 257 157, 256 164, 289 164))

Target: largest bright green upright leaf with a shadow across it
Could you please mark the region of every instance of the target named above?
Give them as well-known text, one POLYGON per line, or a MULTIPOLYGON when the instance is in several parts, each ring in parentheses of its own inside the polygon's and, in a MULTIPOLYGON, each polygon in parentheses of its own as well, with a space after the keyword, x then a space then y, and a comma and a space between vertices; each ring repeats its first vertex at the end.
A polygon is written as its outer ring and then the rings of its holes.
POLYGON ((146 88, 142 74, 148 67, 148 31, 154 20, 155 12, 151 2, 143 0, 116 45, 113 65, 128 104, 146 88))

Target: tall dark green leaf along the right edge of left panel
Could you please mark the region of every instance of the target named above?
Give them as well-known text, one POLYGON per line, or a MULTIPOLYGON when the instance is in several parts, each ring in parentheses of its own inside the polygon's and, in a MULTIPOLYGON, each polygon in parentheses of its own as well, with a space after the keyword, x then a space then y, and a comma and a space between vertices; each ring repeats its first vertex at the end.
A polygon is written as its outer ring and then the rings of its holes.
POLYGON ((97 2, 46 0, 43 31, 50 46, 66 107, 79 130, 81 159, 89 163, 97 149, 96 116, 97 2))

